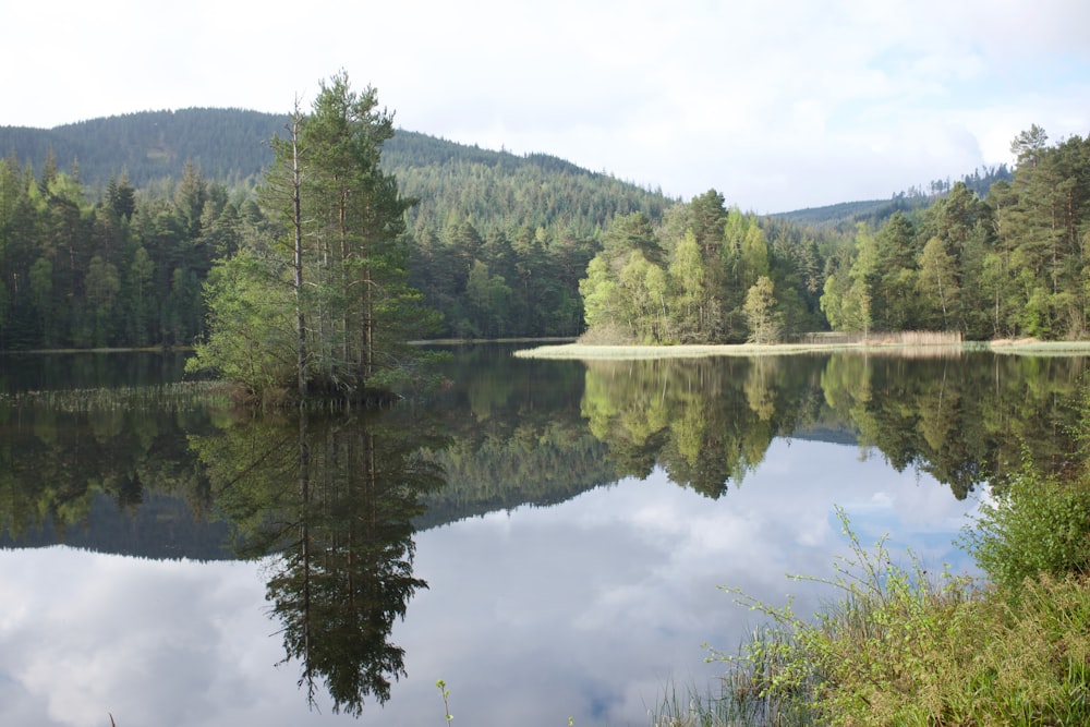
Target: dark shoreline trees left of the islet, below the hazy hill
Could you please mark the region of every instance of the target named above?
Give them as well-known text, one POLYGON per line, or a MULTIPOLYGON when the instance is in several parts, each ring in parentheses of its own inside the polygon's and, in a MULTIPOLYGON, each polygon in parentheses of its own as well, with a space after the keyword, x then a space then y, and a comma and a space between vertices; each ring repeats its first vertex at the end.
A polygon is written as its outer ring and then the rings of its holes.
POLYGON ((0 162, 0 350, 187 346, 211 262, 262 223, 192 165, 167 194, 122 173, 92 202, 77 169, 0 162))

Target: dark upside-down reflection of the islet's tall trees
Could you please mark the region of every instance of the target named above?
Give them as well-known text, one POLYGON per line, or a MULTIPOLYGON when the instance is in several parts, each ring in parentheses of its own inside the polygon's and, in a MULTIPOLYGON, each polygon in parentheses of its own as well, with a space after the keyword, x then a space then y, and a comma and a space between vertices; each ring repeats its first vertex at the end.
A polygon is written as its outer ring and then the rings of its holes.
POLYGON ((413 518, 443 486, 422 448, 443 443, 411 412, 347 417, 261 417, 191 438, 241 556, 271 556, 266 599, 281 625, 284 661, 316 703, 359 716, 404 675, 393 622, 427 584, 413 577, 413 518))

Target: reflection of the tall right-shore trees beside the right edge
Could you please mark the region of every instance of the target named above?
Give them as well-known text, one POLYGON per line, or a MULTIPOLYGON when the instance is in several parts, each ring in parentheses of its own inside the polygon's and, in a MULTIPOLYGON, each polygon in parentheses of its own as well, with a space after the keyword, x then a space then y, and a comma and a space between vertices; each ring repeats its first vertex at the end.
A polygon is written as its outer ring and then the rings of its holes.
POLYGON ((861 445, 897 470, 930 473, 960 499, 985 481, 1002 485, 1027 453, 1042 472, 1068 467, 1085 365, 1074 356, 840 354, 822 386, 861 445))

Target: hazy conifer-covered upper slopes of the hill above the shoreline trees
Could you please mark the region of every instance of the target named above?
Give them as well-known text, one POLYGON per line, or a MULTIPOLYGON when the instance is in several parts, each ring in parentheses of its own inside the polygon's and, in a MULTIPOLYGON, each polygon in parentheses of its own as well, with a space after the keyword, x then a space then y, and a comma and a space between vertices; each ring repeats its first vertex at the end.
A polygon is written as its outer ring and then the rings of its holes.
MULTIPOLYGON (((40 173, 51 154, 62 170, 75 162, 80 181, 92 189, 104 189, 122 170, 137 189, 180 180, 186 162, 228 187, 252 186, 272 160, 268 141, 284 134, 287 120, 242 109, 183 109, 49 130, 0 126, 0 156, 40 173)), ((481 232, 529 226, 589 233, 632 211, 657 219, 675 202, 554 156, 494 152, 405 130, 384 146, 383 168, 403 194, 420 199, 410 214, 417 229, 458 216, 481 232)))

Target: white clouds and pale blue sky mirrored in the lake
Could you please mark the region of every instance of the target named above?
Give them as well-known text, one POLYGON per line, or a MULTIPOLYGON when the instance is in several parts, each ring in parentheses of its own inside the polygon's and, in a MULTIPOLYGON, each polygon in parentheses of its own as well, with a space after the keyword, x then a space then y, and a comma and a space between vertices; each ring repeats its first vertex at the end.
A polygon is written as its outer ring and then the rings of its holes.
MULTIPOLYGON (((549 508, 522 507, 416 534, 415 574, 393 640, 408 678, 360 724, 443 718, 436 679, 463 724, 645 724, 669 680, 704 684, 703 642, 737 644, 753 615, 726 584, 780 604, 826 574, 845 541, 891 533, 925 561, 965 512, 928 475, 859 449, 777 439, 763 464, 711 500, 668 482, 623 480, 549 508)), ((307 710, 267 616, 262 564, 153 561, 66 547, 0 552, 0 723, 276 727, 355 723, 307 710)), ((798 610, 819 594, 800 595, 798 610)))

